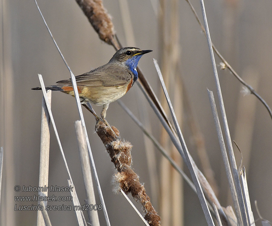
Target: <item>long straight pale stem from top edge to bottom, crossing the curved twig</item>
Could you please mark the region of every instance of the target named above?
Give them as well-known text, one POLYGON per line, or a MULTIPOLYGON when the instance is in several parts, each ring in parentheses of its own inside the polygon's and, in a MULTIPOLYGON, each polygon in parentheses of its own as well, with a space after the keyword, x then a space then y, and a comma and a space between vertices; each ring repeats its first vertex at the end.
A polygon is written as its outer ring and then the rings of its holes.
POLYGON ((218 74, 217 74, 214 54, 213 54, 213 50, 212 50, 212 41, 211 41, 211 37, 210 37, 210 33, 209 33, 208 21, 207 21, 207 16, 206 16, 203 0, 200 0, 200 5, 201 5, 201 9, 202 9, 202 16, 203 16, 205 30, 206 30, 206 34, 207 34, 209 52, 210 52, 210 57, 211 57, 211 61, 212 61, 212 69, 213 69, 214 78, 215 78, 217 95, 219 97, 220 110, 221 110, 221 114, 222 114, 222 118, 223 118, 223 125, 224 125, 224 130, 225 130, 225 135, 226 135, 226 142, 228 145, 228 151, 229 151, 230 161, 231 161, 231 165, 232 165, 232 173, 234 174, 234 183, 235 183, 236 193, 237 193, 237 197, 238 197, 239 207, 241 210, 243 225, 247 226, 248 222, 247 222, 247 216, 246 216, 246 211, 245 211, 245 206, 244 206, 243 194, 242 194, 242 190, 241 190, 239 174, 237 171, 237 165, 236 165, 235 156, 234 156, 234 152, 233 152, 232 140, 231 140, 230 133, 229 133, 228 121, 227 121, 226 111, 225 111, 225 107, 224 107, 222 92, 221 92, 221 88, 220 88, 219 78, 218 78, 218 74))

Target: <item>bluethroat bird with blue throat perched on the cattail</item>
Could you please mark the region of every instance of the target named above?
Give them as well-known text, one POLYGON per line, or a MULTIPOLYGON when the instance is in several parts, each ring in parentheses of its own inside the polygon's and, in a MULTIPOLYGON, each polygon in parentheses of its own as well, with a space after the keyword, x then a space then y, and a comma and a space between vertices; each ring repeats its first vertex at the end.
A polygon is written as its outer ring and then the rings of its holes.
MULTIPOLYGON (((137 81, 137 64, 142 55, 151 51, 152 50, 141 50, 135 47, 125 47, 119 49, 107 64, 76 76, 76 84, 81 104, 91 111, 97 120, 99 120, 99 117, 86 103, 91 102, 99 106, 103 105, 101 117, 111 130, 112 127, 110 127, 105 119, 108 105, 124 96, 137 81)), ((60 80, 57 83, 57 85, 46 86, 45 89, 60 91, 74 96, 71 79, 60 80)), ((40 90, 41 87, 33 89, 40 90)), ((113 132, 113 134, 115 133, 113 132)))

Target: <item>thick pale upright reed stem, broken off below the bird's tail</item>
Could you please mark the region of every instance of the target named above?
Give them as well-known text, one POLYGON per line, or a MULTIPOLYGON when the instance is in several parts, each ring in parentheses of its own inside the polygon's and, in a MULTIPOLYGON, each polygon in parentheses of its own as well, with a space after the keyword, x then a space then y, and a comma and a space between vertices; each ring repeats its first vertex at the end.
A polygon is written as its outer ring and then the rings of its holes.
MULTIPOLYGON (((47 98, 51 107, 51 90, 47 91, 47 98)), ((49 144, 50 144, 50 115, 48 113, 46 102, 43 97, 42 100, 42 114, 41 114, 41 131, 40 131, 40 171, 39 171, 39 187, 48 186, 48 170, 49 170, 49 144)), ((39 191, 38 194, 47 196, 46 191, 39 191)), ((47 201, 44 201, 47 206, 47 201)), ((37 225, 44 225, 44 218, 40 210, 37 212, 37 225)))

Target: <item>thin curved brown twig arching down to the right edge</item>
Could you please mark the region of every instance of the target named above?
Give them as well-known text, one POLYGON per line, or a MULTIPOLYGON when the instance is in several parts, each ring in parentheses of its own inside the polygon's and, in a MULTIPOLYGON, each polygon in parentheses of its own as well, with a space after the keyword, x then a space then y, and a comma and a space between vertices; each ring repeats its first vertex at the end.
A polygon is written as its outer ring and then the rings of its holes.
MULTIPOLYGON (((207 34, 206 34, 206 30, 204 28, 204 26, 202 25, 200 19, 199 19, 199 16, 197 15, 196 13, 196 10, 194 9, 192 3, 189 1, 189 0, 185 0, 190 9, 192 10, 194 16, 196 17, 196 20, 199 24, 199 26, 201 27, 203 33, 205 34, 205 36, 207 37, 207 34)), ((239 82, 241 82, 244 86, 246 86, 249 90, 250 90, 250 93, 253 94, 254 96, 257 97, 257 99, 259 99, 261 101, 261 103, 265 106, 265 108, 267 109, 268 111, 268 114, 270 115, 270 118, 272 119, 272 111, 270 109, 270 107, 268 106, 267 102, 252 88, 252 86, 250 86, 249 84, 247 84, 238 74, 237 72, 232 68, 232 66, 225 60, 225 58, 221 55, 221 53, 216 49, 216 47, 214 46, 213 43, 212 44, 212 48, 214 49, 215 53, 219 56, 219 58, 222 60, 222 62, 225 64, 224 65, 224 69, 227 67, 229 69, 229 71, 231 71, 231 73, 239 80, 239 82)))

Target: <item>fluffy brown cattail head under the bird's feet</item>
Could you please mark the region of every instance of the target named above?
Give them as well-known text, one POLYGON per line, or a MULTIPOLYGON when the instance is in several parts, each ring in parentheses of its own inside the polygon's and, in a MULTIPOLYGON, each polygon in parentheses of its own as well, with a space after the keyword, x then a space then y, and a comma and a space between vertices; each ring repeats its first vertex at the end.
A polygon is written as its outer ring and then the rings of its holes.
MULTIPOLYGON (((102 121, 96 123, 95 129, 118 171, 115 174, 115 182, 126 194, 131 193, 132 197, 143 205, 144 219, 148 224, 159 226, 161 218, 153 208, 138 175, 131 168, 131 143, 116 139, 112 131, 102 121)), ((119 131, 114 126, 112 129, 119 136, 119 131)))

